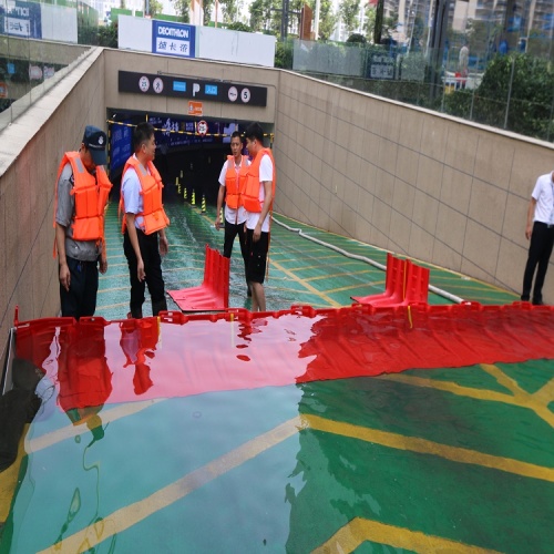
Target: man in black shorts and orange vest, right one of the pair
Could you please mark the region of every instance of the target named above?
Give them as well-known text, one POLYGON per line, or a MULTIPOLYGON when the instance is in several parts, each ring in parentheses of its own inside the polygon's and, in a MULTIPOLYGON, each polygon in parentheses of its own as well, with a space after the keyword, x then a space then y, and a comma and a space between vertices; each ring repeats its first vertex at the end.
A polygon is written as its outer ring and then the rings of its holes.
POLYGON ((275 195, 275 162, 271 151, 264 147, 264 131, 259 123, 250 123, 245 136, 246 147, 253 157, 240 195, 246 209, 246 279, 252 287, 252 310, 265 311, 264 279, 269 249, 270 209, 275 195))

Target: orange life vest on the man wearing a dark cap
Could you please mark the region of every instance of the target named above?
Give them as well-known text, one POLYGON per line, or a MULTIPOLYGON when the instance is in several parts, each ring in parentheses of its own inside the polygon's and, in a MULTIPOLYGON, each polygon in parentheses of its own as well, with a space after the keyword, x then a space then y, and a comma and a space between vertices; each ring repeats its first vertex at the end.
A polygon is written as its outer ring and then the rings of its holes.
POLYGON ((70 194, 75 197, 75 215, 71 223, 73 239, 101 240, 104 243, 104 212, 112 183, 102 166, 96 166, 96 177, 91 175, 84 166, 79 152, 66 152, 58 168, 55 179, 55 212, 58 208, 58 182, 65 164, 70 163, 73 171, 73 189, 70 194))

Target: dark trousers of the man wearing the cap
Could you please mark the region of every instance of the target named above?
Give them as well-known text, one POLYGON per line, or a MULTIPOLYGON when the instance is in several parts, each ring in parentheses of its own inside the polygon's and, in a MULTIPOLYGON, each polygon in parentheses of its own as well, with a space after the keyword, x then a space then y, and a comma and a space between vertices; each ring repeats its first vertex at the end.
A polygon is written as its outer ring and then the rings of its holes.
POLYGON ((60 304, 62 317, 94 316, 96 294, 99 291, 98 261, 80 261, 65 257, 71 275, 70 289, 60 285, 60 304))

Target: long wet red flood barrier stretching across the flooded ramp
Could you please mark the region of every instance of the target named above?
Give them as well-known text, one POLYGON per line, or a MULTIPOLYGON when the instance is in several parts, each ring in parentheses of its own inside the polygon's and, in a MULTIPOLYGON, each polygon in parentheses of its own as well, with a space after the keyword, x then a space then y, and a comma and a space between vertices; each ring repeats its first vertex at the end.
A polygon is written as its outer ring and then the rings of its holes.
POLYGON ((414 368, 554 360, 553 337, 554 307, 522 302, 302 306, 111 322, 37 319, 17 324, 16 355, 45 373, 69 411, 414 368))

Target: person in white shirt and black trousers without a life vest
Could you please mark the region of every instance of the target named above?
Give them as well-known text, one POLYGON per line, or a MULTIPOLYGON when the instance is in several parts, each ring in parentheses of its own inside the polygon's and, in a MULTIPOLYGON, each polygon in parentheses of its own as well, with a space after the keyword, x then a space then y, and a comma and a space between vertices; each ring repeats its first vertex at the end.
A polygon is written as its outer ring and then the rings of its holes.
POLYGON ((531 244, 521 299, 530 300, 533 276, 538 266, 532 300, 535 306, 542 306, 544 278, 554 246, 554 172, 541 175, 536 179, 529 203, 525 236, 527 240, 531 239, 531 244))

